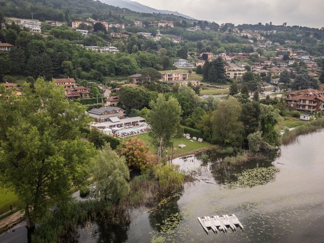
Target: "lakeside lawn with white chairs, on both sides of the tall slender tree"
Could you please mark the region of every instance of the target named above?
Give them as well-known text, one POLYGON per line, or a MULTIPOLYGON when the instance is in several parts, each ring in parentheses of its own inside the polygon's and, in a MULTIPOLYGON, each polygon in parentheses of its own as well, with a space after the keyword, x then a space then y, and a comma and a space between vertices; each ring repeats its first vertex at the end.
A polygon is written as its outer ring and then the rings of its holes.
MULTIPOLYGON (((143 140, 146 145, 148 146, 148 149, 155 153, 155 149, 152 146, 151 142, 149 141, 149 135, 148 133, 144 133, 141 135, 136 136, 137 138, 143 140)), ((174 150, 174 154, 180 154, 180 153, 184 153, 184 152, 188 152, 188 151, 193 151, 196 149, 200 149, 200 148, 206 148, 206 147, 211 147, 212 144, 208 143, 208 142, 197 142, 197 141, 193 141, 191 142, 190 140, 186 139, 186 138, 174 138, 172 139, 173 141, 173 146, 175 148, 174 150), (185 148, 179 148, 179 144, 184 144, 186 145, 185 148)))

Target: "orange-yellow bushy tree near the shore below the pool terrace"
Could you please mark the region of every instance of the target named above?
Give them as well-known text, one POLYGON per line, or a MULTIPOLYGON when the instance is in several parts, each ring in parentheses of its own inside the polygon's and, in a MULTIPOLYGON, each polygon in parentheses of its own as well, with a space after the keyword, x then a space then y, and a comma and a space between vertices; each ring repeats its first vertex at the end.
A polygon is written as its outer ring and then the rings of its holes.
POLYGON ((147 150, 146 144, 138 138, 131 138, 121 143, 117 151, 126 158, 126 164, 129 168, 142 170, 154 164, 154 155, 147 150))

